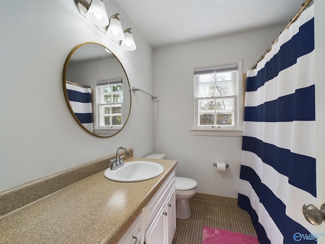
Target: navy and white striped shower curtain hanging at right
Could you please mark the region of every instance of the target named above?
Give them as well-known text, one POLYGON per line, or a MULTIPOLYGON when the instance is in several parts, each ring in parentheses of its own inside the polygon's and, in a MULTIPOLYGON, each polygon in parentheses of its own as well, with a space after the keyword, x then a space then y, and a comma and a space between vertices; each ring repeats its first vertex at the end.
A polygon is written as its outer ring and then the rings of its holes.
POLYGON ((244 113, 238 205, 261 244, 297 243, 316 232, 302 214, 316 199, 313 6, 247 72, 244 113))

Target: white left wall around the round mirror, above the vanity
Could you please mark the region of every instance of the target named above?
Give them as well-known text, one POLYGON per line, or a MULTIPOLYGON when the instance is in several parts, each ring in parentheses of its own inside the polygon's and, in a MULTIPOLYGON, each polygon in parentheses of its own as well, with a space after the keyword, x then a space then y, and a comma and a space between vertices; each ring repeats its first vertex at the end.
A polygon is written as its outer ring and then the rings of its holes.
POLYGON ((87 41, 111 49, 132 86, 153 92, 153 51, 114 0, 108 15, 120 13, 132 27, 137 50, 121 50, 86 18, 74 0, 5 1, 0 8, 0 191, 133 147, 135 156, 154 150, 154 104, 132 94, 131 114, 122 132, 97 138, 81 129, 62 92, 69 52, 87 41))

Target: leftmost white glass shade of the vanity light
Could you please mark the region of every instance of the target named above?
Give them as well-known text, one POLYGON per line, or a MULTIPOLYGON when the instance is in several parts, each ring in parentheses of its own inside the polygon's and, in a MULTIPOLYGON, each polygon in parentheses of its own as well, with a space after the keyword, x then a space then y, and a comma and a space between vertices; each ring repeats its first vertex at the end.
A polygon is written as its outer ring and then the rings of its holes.
POLYGON ((91 0, 86 18, 94 25, 107 26, 109 21, 103 1, 91 0))

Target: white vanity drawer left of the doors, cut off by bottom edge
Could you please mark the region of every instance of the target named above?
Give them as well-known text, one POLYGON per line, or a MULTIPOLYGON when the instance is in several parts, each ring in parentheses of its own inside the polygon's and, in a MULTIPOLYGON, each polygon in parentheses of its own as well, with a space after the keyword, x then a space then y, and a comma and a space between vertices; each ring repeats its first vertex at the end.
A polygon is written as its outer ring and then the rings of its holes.
POLYGON ((138 216, 138 218, 133 222, 133 224, 127 229, 125 234, 122 236, 122 238, 117 242, 118 244, 141 244, 143 243, 143 210, 141 211, 141 214, 138 216), (138 241, 136 242, 136 238, 138 238, 138 241))

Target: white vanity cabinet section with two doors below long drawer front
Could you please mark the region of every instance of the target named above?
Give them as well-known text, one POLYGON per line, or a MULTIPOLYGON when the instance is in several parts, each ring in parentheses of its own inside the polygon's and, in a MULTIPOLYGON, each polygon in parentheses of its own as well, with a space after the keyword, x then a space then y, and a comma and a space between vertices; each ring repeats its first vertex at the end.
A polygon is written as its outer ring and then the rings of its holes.
POLYGON ((145 208, 148 224, 146 244, 171 244, 176 230, 175 172, 145 208))

